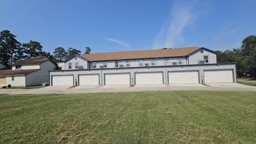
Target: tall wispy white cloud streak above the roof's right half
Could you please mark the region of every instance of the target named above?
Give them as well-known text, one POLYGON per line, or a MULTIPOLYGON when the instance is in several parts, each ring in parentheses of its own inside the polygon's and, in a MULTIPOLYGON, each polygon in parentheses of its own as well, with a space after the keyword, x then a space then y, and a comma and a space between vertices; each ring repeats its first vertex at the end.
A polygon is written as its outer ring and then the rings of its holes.
POLYGON ((183 39, 182 30, 193 20, 191 6, 174 4, 168 20, 153 42, 153 49, 172 48, 183 39))

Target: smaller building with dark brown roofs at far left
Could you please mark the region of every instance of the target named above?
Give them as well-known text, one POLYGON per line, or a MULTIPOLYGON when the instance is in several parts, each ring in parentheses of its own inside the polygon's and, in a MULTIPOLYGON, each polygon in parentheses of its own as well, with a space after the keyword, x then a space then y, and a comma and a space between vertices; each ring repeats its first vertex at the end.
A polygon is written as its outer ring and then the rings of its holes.
POLYGON ((34 86, 49 82, 49 71, 57 64, 47 56, 28 58, 12 64, 12 70, 0 70, 0 86, 34 86))

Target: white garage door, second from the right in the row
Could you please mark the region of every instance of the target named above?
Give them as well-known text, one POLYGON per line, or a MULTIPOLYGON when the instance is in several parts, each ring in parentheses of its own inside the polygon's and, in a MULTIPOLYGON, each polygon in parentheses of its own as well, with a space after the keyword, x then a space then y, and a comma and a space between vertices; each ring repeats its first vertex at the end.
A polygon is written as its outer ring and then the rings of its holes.
POLYGON ((168 72, 169 84, 198 84, 198 71, 168 72))

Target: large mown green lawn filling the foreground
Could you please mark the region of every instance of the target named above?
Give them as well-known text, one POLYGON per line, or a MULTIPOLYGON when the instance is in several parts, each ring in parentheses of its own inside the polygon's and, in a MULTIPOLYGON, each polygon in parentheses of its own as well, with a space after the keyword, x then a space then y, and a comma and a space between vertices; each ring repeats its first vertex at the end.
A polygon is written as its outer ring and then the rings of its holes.
POLYGON ((0 95, 0 143, 256 143, 256 92, 0 95))

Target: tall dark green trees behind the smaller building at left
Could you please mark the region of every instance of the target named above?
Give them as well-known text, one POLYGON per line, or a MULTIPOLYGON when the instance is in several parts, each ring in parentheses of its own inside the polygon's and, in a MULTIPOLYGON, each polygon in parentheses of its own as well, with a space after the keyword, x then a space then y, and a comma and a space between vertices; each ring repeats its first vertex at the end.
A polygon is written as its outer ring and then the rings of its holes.
MULTIPOLYGON (((16 36, 9 30, 0 32, 0 63, 9 66, 20 60, 36 56, 48 56, 54 62, 63 62, 73 55, 80 55, 81 51, 75 48, 68 48, 66 51, 62 47, 55 48, 53 55, 42 50, 40 42, 30 40, 28 43, 21 44, 16 40, 16 36)), ((85 54, 90 54, 91 48, 85 48, 85 54)))

